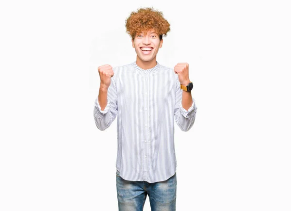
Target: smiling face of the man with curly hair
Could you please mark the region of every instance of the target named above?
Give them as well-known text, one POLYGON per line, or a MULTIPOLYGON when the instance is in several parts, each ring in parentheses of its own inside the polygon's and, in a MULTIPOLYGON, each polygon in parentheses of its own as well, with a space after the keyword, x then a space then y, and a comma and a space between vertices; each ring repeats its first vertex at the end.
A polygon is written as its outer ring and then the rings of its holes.
POLYGON ((154 30, 147 33, 136 33, 134 40, 131 41, 132 48, 135 49, 137 56, 145 62, 149 62, 156 57, 163 42, 163 40, 160 41, 159 35, 154 30))

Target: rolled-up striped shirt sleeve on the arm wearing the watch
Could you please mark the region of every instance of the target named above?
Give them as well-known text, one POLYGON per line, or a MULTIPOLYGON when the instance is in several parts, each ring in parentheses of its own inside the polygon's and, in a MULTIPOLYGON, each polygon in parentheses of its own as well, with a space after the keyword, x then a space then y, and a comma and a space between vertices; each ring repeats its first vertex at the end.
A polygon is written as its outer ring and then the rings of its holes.
POLYGON ((180 88, 180 82, 177 79, 175 98, 175 120, 182 131, 188 131, 194 125, 197 107, 195 105, 195 99, 192 97, 191 107, 188 109, 188 111, 184 109, 182 106, 182 94, 183 90, 180 88))

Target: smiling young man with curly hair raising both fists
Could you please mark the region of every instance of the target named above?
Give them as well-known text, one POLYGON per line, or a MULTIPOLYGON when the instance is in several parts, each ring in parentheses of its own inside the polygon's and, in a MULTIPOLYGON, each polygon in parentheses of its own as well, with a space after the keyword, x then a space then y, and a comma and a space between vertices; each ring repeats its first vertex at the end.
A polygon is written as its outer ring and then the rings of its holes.
POLYGON ((197 107, 189 65, 160 65, 157 53, 170 24, 162 12, 140 8, 126 20, 136 61, 101 65, 94 118, 99 130, 117 117, 116 188, 119 211, 176 210, 174 121, 183 131, 194 124, 197 107))

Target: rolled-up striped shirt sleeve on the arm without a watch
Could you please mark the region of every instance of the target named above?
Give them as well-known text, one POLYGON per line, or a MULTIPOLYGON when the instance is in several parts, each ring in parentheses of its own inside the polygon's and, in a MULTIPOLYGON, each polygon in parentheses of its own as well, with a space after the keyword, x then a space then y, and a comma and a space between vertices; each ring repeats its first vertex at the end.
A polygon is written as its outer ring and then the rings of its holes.
POLYGON ((117 91, 114 76, 111 78, 110 86, 107 91, 107 105, 104 111, 101 110, 98 97, 95 100, 94 120, 99 130, 107 129, 117 115, 117 91))

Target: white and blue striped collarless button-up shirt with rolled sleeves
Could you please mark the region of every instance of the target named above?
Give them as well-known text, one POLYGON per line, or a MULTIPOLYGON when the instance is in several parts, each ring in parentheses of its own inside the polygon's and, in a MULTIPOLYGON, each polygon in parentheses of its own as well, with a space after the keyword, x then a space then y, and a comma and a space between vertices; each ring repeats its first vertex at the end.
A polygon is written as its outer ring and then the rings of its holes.
POLYGON ((116 169, 121 178, 149 183, 164 181, 176 173, 174 122, 188 131, 197 107, 182 107, 182 92, 174 69, 157 65, 142 69, 136 62, 113 68, 107 105, 95 100, 94 119, 107 129, 117 116, 116 169), (118 114, 118 115, 117 115, 118 114))

